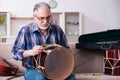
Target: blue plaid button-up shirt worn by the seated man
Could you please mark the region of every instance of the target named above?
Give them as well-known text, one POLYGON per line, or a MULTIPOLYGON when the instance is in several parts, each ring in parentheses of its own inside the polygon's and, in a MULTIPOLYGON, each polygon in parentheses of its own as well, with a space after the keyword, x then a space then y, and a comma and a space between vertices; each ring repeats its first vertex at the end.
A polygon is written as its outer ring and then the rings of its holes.
POLYGON ((66 36, 58 25, 50 24, 47 29, 47 35, 44 36, 36 23, 30 23, 23 26, 19 31, 11 53, 13 58, 22 61, 24 67, 34 68, 33 57, 23 58, 23 52, 24 50, 32 49, 35 45, 43 44, 59 44, 68 47, 66 36))

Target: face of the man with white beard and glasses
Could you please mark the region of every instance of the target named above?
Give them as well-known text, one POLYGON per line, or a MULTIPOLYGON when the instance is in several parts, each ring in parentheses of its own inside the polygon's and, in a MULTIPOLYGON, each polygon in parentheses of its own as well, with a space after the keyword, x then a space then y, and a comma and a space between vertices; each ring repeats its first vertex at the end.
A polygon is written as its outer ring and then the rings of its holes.
POLYGON ((47 29, 51 20, 51 12, 47 8, 39 8, 34 19, 40 29, 47 29))

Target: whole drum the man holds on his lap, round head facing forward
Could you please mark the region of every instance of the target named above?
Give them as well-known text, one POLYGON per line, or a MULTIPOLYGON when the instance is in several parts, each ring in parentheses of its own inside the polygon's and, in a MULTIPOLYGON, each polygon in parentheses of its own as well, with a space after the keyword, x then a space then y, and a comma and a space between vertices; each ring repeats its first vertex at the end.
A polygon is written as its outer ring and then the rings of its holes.
POLYGON ((66 79, 74 68, 72 52, 57 44, 44 45, 44 47, 43 53, 33 57, 36 69, 42 71, 48 79, 66 79))

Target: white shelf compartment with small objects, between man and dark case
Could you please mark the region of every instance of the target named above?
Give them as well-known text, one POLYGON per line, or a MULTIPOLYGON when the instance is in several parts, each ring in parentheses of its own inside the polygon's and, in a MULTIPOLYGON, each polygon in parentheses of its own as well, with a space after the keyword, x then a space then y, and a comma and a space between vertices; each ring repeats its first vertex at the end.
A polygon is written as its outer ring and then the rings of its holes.
POLYGON ((81 31, 79 12, 65 12, 65 34, 69 42, 77 42, 81 31))

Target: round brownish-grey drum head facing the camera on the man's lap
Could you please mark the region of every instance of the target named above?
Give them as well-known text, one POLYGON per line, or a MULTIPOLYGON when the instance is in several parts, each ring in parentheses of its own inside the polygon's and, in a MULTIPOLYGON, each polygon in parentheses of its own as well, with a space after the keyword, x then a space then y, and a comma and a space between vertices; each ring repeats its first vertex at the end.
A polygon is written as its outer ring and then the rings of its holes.
POLYGON ((45 73, 50 79, 63 80, 73 71, 74 57, 64 47, 56 47, 45 60, 45 73))

